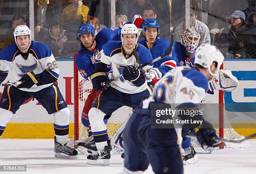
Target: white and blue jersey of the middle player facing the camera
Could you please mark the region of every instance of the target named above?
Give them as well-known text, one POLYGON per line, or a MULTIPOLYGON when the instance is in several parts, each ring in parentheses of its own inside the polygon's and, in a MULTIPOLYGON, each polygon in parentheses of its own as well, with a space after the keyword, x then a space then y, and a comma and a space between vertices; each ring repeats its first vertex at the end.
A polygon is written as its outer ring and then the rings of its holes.
MULTIPOLYGON (((148 61, 152 60, 150 51, 141 44, 136 45, 136 50, 141 64, 146 64, 148 61)), ((121 41, 108 41, 108 43, 102 47, 102 51, 98 55, 98 59, 102 63, 112 66, 113 74, 110 78, 123 74, 123 69, 129 65, 135 67, 139 66, 139 63, 133 53, 131 55, 124 54, 121 41)), ((148 65, 143 67, 143 70, 146 71, 146 69, 150 69, 151 67, 151 65, 148 65)), ((148 87, 146 81, 140 87, 136 87, 132 82, 125 80, 123 77, 110 83, 110 86, 128 94, 142 92, 148 87)))

